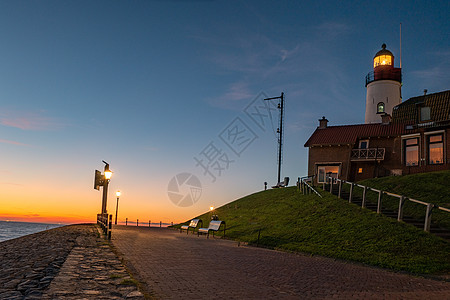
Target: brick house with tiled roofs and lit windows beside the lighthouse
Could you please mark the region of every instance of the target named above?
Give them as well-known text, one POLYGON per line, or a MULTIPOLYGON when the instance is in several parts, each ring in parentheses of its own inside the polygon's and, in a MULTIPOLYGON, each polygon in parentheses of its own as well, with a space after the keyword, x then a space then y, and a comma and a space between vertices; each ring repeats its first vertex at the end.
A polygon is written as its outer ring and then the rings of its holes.
POLYGON ((344 126, 319 120, 305 143, 308 175, 358 181, 450 169, 450 90, 411 98, 380 119, 344 126))

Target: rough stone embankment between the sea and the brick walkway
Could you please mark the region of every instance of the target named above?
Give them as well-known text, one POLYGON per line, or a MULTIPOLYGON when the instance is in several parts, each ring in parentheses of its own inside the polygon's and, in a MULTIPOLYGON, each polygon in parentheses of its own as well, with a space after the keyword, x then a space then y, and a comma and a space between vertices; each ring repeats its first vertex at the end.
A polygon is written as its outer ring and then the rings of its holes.
POLYGON ((94 225, 0 243, 0 299, 144 299, 94 225))

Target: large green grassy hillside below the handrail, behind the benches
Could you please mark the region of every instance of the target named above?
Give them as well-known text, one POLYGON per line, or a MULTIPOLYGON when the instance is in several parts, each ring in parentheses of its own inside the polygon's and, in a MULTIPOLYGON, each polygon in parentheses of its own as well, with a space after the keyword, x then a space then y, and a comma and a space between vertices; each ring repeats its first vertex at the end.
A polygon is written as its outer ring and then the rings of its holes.
MULTIPOLYGON (((255 193, 215 210, 228 238, 416 274, 450 273, 450 243, 324 193, 255 193)), ((203 227, 210 213, 198 216, 203 227)), ((186 222, 187 223, 187 222, 186 222)))

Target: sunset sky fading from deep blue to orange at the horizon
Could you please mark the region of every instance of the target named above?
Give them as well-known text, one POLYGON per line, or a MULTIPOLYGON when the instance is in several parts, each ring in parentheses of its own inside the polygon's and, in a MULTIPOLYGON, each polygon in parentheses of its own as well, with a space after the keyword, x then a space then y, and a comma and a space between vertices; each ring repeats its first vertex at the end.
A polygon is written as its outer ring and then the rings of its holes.
POLYGON ((400 23, 403 99, 450 88, 449 11, 448 1, 0 1, 0 220, 95 221, 102 160, 114 172, 109 213, 122 191, 120 221, 185 221, 273 185, 278 112, 261 123, 252 109, 281 92, 282 177, 295 184, 319 118, 364 122, 365 76, 383 43, 399 66, 400 23), (184 206, 168 194, 183 173, 201 185, 184 206))

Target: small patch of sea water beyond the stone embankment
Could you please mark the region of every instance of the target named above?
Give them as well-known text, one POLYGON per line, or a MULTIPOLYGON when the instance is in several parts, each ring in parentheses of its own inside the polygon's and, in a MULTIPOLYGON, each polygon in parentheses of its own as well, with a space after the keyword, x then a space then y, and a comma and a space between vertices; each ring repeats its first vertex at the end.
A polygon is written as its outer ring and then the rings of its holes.
POLYGON ((61 226, 63 225, 0 221, 0 242, 61 226))

